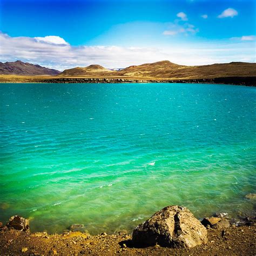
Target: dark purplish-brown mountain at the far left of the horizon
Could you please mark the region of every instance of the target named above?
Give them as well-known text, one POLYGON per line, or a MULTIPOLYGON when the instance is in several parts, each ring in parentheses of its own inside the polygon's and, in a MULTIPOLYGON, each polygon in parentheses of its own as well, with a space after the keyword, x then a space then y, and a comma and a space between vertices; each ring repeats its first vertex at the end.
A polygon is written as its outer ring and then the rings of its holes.
POLYGON ((30 63, 24 63, 21 60, 17 60, 16 62, 0 62, 0 75, 57 76, 59 73, 60 71, 58 70, 48 69, 44 68, 43 66, 30 63))

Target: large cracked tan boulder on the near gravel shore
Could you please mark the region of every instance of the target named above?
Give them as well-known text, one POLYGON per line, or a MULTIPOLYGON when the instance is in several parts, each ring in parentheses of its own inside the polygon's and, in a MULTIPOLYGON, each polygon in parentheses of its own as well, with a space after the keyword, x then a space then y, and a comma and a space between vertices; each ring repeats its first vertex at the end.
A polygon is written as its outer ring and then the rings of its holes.
POLYGON ((136 246, 191 248, 207 242, 206 228, 186 208, 167 206, 138 225, 132 233, 136 246))

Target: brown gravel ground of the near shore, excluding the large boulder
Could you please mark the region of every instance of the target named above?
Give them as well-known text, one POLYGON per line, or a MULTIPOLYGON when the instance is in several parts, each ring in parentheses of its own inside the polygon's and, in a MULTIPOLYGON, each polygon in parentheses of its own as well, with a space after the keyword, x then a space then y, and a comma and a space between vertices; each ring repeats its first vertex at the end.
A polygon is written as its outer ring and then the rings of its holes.
POLYGON ((193 248, 134 245, 131 234, 90 235, 80 231, 62 234, 29 233, 2 227, 2 255, 255 255, 255 223, 250 226, 207 227, 208 241, 193 248))

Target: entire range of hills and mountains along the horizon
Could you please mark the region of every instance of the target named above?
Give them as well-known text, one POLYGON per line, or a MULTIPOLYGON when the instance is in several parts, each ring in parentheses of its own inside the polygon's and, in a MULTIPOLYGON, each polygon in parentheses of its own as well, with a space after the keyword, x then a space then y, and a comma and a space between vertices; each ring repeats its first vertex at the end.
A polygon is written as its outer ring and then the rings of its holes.
POLYGON ((60 72, 39 65, 16 62, 0 62, 0 75, 49 75, 59 77, 119 77, 149 79, 204 79, 227 77, 256 77, 256 63, 231 62, 202 66, 185 66, 171 63, 169 60, 129 66, 125 69, 110 70, 100 65, 85 68, 66 69, 60 72))

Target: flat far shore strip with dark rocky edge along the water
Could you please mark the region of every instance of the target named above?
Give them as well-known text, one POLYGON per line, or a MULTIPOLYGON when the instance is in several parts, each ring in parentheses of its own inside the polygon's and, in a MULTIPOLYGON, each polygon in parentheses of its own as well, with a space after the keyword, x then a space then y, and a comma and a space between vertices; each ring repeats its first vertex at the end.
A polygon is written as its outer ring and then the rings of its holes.
POLYGON ((256 86, 252 77, 207 77, 207 78, 141 78, 141 77, 61 77, 0 75, 0 83, 196 83, 256 86))

